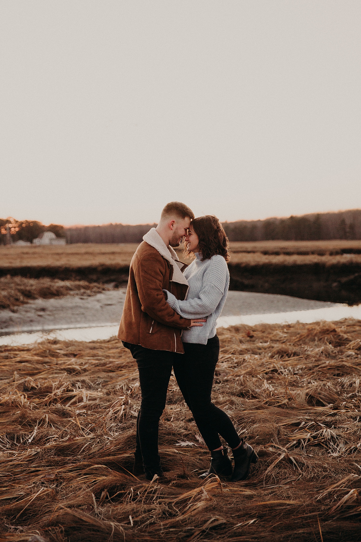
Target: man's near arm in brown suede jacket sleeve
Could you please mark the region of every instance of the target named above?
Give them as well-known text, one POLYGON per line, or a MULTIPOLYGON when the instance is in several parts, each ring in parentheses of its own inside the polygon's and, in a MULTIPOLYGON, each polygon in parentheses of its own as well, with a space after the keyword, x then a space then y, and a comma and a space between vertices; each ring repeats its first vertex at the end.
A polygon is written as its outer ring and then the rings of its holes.
POLYGON ((179 316, 165 300, 162 291, 165 270, 166 262, 161 256, 148 254, 139 260, 135 282, 142 311, 165 326, 185 329, 191 325, 191 320, 179 316))

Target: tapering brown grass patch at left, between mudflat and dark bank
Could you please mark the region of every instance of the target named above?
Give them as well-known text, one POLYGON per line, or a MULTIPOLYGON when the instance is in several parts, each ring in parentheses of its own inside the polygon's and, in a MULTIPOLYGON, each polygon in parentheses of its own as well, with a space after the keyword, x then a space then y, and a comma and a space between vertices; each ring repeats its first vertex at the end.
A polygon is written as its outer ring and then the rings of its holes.
POLYGON ((50 299, 64 295, 96 295, 109 287, 85 280, 27 279, 22 276, 0 278, 0 308, 15 311, 32 299, 50 299))

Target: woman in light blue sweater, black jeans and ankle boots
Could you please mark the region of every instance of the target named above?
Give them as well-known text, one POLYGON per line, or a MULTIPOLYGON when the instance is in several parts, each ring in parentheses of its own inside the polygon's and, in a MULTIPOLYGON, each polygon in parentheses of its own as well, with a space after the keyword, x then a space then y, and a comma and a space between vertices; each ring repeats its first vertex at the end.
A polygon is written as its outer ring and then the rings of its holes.
POLYGON ((189 284, 188 296, 179 301, 165 291, 168 304, 183 318, 207 318, 202 327, 183 331, 184 354, 176 354, 174 374, 185 401, 191 409, 195 423, 211 451, 211 466, 202 476, 215 473, 232 475, 231 481, 245 480, 251 462, 257 454, 245 440, 240 438, 227 414, 211 401, 216 363, 219 356, 219 338, 215 324, 225 304, 229 272, 228 239, 215 216, 195 218, 185 238, 188 253, 195 260, 186 268, 184 275, 189 284), (224 449, 219 435, 232 448, 232 462, 224 449))

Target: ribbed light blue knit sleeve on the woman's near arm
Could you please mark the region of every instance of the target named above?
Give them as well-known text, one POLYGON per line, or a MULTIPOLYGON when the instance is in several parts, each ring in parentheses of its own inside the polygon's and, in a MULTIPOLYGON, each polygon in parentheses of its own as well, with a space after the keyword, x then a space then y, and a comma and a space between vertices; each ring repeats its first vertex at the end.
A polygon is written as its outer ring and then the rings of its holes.
MULTIPOLYGON (((206 260, 208 265, 207 272, 197 278, 199 293, 196 298, 180 301, 168 291, 167 303, 183 318, 202 318, 212 314, 218 307, 220 300, 224 296, 228 268, 224 257, 216 255, 211 260, 206 260)), ((197 280, 195 279, 195 280, 197 280)))

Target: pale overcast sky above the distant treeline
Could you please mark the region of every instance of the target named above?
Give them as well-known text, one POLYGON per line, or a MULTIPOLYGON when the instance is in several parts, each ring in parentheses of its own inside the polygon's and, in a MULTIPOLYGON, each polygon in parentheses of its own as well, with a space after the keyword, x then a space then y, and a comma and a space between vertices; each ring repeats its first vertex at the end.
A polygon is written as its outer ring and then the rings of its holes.
POLYGON ((361 207, 359 0, 0 2, 0 217, 361 207))

